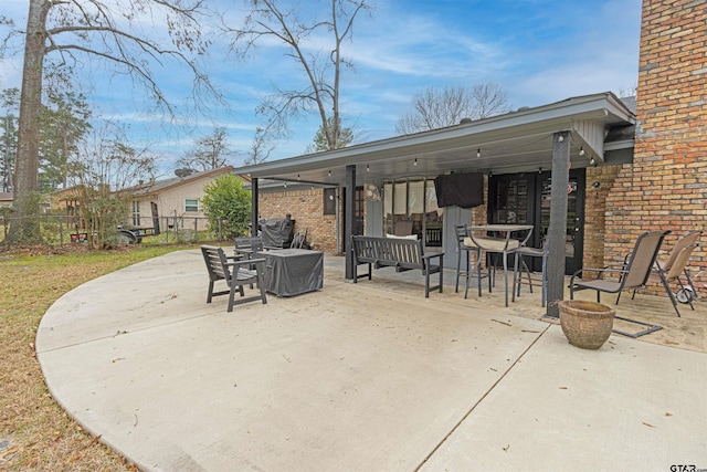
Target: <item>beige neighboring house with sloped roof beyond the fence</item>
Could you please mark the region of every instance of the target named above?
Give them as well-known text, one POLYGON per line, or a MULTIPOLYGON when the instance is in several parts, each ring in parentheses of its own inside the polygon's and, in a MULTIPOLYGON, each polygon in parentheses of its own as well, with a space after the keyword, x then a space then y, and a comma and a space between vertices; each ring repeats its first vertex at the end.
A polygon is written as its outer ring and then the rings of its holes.
POLYGON ((207 219, 201 207, 204 186, 217 177, 231 174, 233 167, 193 172, 182 177, 156 180, 139 185, 128 191, 133 193, 126 224, 130 228, 156 228, 157 221, 177 229, 207 229, 207 219))

